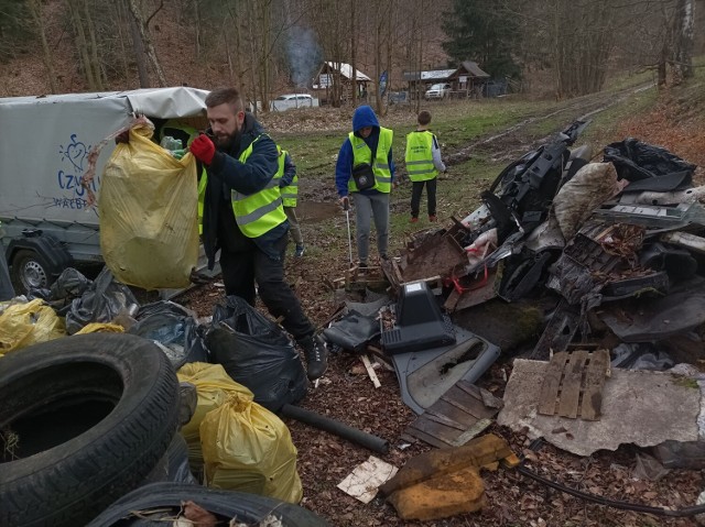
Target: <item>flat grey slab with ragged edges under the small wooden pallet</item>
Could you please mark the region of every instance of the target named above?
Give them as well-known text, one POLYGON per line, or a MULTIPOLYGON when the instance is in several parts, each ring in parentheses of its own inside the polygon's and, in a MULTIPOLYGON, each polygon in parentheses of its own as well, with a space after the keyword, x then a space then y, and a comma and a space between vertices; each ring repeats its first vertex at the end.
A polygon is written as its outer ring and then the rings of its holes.
POLYGON ((497 422, 529 438, 577 455, 589 455, 621 443, 652 447, 666 440, 698 439, 701 389, 697 383, 666 372, 612 369, 603 389, 598 421, 538 414, 549 363, 517 359, 497 422))

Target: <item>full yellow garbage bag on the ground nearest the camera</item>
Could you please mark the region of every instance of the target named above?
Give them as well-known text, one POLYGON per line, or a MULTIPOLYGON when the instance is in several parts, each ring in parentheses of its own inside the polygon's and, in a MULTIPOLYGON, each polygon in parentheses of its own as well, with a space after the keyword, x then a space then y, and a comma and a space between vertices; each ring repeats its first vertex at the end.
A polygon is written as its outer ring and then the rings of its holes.
POLYGON ((263 406, 237 395, 200 424, 206 485, 299 503, 296 447, 286 425, 263 406))

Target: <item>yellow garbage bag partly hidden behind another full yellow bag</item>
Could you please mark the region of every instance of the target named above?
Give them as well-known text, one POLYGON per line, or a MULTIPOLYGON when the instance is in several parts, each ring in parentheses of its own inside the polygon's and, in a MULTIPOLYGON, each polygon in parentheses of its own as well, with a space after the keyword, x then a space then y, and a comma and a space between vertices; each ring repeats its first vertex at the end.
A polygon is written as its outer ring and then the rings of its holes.
POLYGON ((194 472, 203 466, 203 453, 200 451, 200 422, 206 415, 220 405, 231 395, 252 400, 254 395, 247 387, 236 383, 226 373, 220 364, 206 362, 191 362, 184 364, 177 372, 180 383, 191 383, 196 386, 198 402, 196 411, 191 420, 181 429, 182 436, 188 444, 188 461, 194 472))

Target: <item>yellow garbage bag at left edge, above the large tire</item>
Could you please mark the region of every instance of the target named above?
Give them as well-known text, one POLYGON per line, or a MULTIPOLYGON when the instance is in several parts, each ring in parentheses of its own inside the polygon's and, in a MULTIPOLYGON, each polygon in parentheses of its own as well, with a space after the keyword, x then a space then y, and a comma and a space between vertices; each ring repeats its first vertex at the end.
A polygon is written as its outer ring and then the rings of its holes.
POLYGON ((41 298, 13 304, 0 315, 1 354, 59 337, 66 337, 64 319, 41 298))

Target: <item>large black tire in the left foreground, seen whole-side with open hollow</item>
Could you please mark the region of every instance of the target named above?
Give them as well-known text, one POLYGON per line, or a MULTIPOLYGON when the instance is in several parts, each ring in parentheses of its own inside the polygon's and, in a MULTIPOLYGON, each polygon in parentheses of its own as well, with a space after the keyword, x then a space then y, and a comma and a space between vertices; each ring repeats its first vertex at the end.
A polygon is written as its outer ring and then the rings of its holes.
POLYGON ((86 525, 164 455, 177 397, 166 355, 131 334, 67 337, 4 356, 0 525, 86 525))

